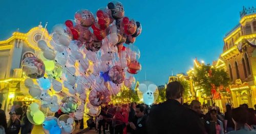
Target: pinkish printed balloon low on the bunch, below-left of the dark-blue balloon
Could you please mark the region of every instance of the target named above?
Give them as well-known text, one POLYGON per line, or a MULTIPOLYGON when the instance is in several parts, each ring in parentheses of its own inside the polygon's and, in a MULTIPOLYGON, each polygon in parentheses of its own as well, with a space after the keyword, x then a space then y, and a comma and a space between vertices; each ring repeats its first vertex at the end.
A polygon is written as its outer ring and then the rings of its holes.
POLYGON ((89 101, 94 106, 99 106, 103 100, 103 94, 96 89, 93 89, 89 94, 89 101))

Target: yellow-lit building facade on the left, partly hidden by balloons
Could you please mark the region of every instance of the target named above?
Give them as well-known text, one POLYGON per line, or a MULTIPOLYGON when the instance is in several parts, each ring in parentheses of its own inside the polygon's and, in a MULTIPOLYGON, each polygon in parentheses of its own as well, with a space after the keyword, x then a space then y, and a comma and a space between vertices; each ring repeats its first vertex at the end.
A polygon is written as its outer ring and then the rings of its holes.
POLYGON ((20 89, 24 81, 21 64, 25 58, 35 56, 36 42, 41 38, 48 39, 49 35, 38 25, 28 33, 14 32, 9 39, 0 41, 0 103, 7 116, 14 100, 24 104, 34 101, 28 91, 20 89))

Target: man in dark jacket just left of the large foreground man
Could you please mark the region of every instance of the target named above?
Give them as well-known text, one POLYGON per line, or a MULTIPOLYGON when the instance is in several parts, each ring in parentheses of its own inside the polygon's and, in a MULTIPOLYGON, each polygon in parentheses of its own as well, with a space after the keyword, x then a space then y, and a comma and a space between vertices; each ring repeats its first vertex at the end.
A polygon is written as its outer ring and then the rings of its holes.
POLYGON ((143 105, 138 104, 136 105, 136 117, 134 118, 133 122, 130 122, 130 127, 133 129, 132 134, 146 134, 146 120, 147 117, 144 115, 145 108, 143 105))

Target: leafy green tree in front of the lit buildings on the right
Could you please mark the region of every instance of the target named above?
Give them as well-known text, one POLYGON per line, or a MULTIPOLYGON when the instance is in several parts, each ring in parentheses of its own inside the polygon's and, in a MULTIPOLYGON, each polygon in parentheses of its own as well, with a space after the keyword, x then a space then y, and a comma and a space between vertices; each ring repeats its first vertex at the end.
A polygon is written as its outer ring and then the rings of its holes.
POLYGON ((226 71, 212 67, 209 64, 197 67, 193 80, 195 86, 203 89, 202 93, 209 97, 211 102, 216 92, 224 92, 223 89, 229 85, 229 77, 226 71))

